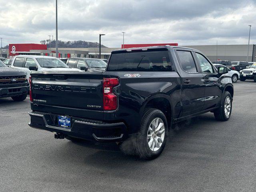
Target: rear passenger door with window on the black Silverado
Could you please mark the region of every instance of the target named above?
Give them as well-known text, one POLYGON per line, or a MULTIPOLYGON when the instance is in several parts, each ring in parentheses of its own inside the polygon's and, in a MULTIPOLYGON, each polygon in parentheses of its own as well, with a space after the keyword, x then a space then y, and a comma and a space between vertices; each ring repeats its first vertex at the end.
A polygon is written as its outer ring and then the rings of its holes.
POLYGON ((176 49, 182 77, 182 117, 202 111, 204 106, 204 77, 196 65, 192 50, 176 49))

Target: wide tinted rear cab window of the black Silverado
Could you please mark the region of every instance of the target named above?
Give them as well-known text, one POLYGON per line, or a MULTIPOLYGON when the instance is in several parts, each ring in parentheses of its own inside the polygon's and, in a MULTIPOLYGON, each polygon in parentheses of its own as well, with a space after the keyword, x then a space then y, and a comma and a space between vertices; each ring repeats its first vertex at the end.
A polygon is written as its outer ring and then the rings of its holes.
POLYGON ((174 71, 166 48, 112 52, 108 71, 174 71))

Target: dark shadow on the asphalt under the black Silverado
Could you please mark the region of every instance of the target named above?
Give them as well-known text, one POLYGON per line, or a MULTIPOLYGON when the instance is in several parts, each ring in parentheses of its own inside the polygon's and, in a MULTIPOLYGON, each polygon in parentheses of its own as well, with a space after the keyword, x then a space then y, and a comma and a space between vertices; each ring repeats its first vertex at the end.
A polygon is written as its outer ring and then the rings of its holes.
MULTIPOLYGON (((83 159, 86 165, 94 166, 95 168, 124 168, 124 165, 136 162, 136 164, 148 164, 150 162, 159 161, 162 158, 171 158, 168 154, 172 152, 172 148, 181 144, 181 138, 190 135, 193 132, 204 132, 207 127, 214 127, 218 124, 212 113, 203 114, 191 120, 180 123, 180 130, 169 132, 166 147, 160 157, 155 160, 147 161, 137 158, 134 155, 125 154, 120 150, 116 143, 94 143, 89 141, 82 142, 66 142, 66 149, 80 148, 81 153, 76 154, 79 159, 83 159), (175 146, 174 146, 175 145, 175 146)), ((128 146, 129 147, 129 146, 128 146)), ((177 150, 177 148, 175 148, 177 150)), ((151 164, 151 163, 150 163, 151 164)), ((133 169, 133 168, 130 168, 133 169)))

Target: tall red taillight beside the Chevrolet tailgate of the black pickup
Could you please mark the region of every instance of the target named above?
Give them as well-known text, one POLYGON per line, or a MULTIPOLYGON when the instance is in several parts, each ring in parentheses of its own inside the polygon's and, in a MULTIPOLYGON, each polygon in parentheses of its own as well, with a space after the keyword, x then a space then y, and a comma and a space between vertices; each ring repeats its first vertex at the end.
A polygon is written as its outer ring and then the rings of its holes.
POLYGON ((117 78, 103 78, 103 109, 116 110, 117 96, 113 93, 113 88, 119 85, 117 78))

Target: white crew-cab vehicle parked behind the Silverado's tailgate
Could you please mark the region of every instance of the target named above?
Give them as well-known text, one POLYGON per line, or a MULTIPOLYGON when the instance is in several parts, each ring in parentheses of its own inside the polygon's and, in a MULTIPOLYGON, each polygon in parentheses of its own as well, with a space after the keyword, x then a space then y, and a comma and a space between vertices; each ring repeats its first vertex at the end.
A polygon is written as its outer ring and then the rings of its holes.
POLYGON ((40 55, 18 55, 15 56, 11 64, 12 68, 16 68, 27 72, 27 78, 30 77, 32 71, 80 71, 77 68, 70 68, 60 59, 49 56, 40 55), (33 70, 32 70, 33 68, 33 70), (31 70, 30 70, 31 69, 31 70))

